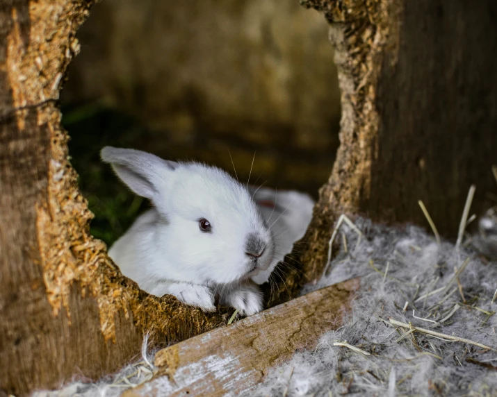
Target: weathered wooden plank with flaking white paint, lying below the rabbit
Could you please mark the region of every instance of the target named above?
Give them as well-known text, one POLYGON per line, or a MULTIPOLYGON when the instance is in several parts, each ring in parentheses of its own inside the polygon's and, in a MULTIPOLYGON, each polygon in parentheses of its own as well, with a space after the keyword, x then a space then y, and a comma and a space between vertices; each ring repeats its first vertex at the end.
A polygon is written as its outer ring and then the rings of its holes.
POLYGON ((154 379, 123 396, 236 396, 250 391, 270 367, 296 350, 313 348, 324 332, 339 328, 358 288, 359 278, 341 282, 159 350, 154 379))

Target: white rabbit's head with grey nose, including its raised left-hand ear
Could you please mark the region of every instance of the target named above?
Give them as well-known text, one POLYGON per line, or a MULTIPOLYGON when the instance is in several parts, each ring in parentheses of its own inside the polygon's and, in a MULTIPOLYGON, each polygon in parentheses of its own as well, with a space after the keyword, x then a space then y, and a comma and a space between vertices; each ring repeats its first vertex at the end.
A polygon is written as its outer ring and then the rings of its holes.
POLYGON ((272 264, 275 243, 268 224, 245 185, 225 171, 111 146, 102 149, 101 158, 156 207, 156 222, 142 227, 151 228, 148 246, 161 244, 176 273, 218 285, 251 278, 272 264))

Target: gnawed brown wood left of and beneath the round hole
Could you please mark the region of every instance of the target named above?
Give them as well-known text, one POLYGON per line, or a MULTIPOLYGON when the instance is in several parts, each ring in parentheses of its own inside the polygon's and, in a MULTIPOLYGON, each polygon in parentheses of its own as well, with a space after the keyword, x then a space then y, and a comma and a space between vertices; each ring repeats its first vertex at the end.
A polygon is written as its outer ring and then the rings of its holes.
POLYGON ((0 389, 22 395, 96 378, 138 353, 225 321, 122 277, 88 233, 56 106, 92 1, 0 4, 0 389))

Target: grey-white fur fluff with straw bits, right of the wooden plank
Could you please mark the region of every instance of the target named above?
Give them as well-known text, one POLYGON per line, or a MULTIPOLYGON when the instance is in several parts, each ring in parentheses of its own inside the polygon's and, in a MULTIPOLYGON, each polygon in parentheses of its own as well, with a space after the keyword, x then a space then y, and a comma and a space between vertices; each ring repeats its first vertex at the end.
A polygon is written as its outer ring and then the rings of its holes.
MULTIPOLYGON (((494 312, 497 304, 491 305, 491 298, 497 287, 496 263, 486 264, 471 251, 457 252, 447 242, 437 246, 432 237, 413 226, 386 228, 364 219, 359 219, 357 226, 366 237, 357 249, 354 249, 357 234, 343 226, 341 230, 345 231, 348 253, 342 246, 329 275, 317 285, 305 288, 305 292, 310 292, 361 276, 360 295, 352 303, 352 312, 346 316, 345 325, 323 335, 315 350, 295 353, 290 362, 272 369, 266 381, 247 392, 247 396, 281 396, 286 388, 288 396, 300 396, 302 384, 309 385, 307 396, 344 393, 357 396, 430 396, 437 393, 442 396, 496 396, 496 371, 466 362, 466 358, 497 366, 497 353, 414 332, 422 350, 418 351, 409 337, 396 342, 400 334, 386 323, 389 317, 407 323, 411 321, 414 326, 496 347, 497 314, 487 319, 483 312, 462 306, 445 323, 435 326, 414 318, 412 304, 402 311, 405 302, 413 301, 416 294, 416 287, 408 284, 421 286, 417 296, 443 287, 453 277, 454 266, 459 267, 469 256, 471 260, 459 277, 466 303, 494 312), (370 260, 382 272, 389 262, 385 281, 384 276, 370 266, 370 260), (371 355, 333 346, 335 341, 347 341, 371 355), (433 355, 442 358, 439 360, 433 355), (293 369, 291 378, 288 378, 288 369, 293 369)), ((443 293, 414 303, 415 315, 425 318, 433 314, 430 319, 442 319, 456 303, 462 303, 457 283, 448 289, 448 294, 450 296, 438 308, 434 305, 443 300, 446 296, 443 293)), ((400 333, 405 331, 400 330, 400 333)))

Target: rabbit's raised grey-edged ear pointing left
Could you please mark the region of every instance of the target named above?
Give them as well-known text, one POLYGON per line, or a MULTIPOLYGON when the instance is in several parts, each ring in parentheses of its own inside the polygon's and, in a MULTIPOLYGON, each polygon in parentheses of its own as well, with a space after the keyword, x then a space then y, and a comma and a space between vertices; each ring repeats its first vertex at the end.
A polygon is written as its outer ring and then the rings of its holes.
POLYGON ((178 167, 177 162, 135 149, 105 146, 100 156, 133 192, 149 198, 157 207, 167 190, 170 174, 178 167))

